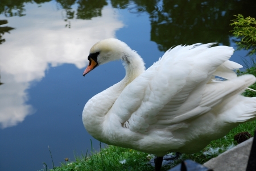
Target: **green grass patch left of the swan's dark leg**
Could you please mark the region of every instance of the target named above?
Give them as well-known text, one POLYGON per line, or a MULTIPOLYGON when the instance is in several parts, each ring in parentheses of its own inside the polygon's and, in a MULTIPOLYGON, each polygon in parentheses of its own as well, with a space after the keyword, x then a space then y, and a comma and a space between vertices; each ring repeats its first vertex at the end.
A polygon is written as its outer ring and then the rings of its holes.
MULTIPOLYGON (((60 167, 51 170, 151 170, 152 167, 147 165, 149 156, 133 149, 108 145, 100 152, 92 152, 92 155, 86 153, 76 157, 75 161, 63 162, 60 167)), ((40 171, 43 170, 48 169, 40 171)))

